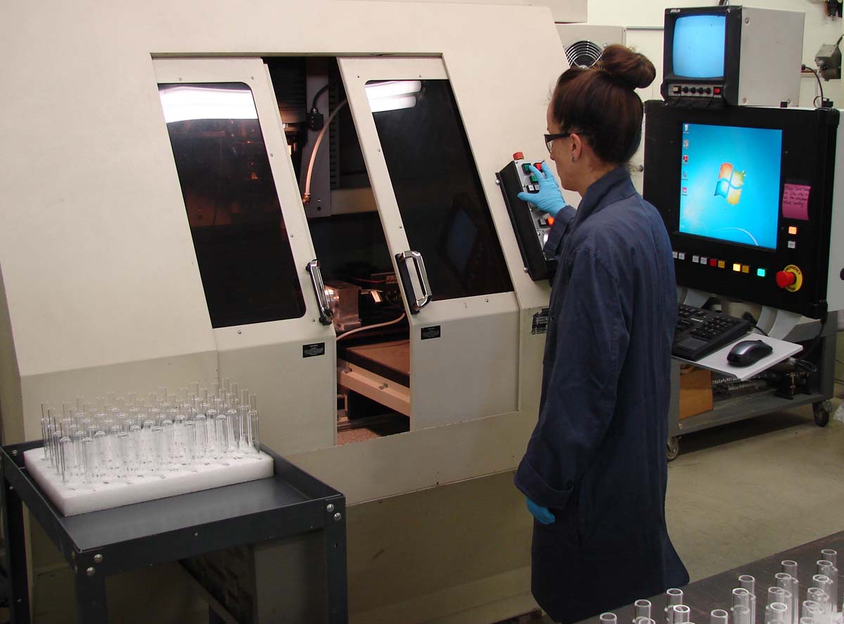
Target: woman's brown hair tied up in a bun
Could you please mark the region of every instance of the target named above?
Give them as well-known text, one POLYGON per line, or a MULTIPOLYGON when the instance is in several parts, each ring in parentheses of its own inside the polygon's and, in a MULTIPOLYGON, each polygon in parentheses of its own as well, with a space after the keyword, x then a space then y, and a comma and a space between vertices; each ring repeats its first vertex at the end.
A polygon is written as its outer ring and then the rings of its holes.
POLYGON ((653 82, 657 71, 642 54, 607 46, 591 68, 574 67, 557 80, 551 113, 563 133, 580 133, 595 155, 624 163, 641 142, 642 104, 636 89, 653 82))

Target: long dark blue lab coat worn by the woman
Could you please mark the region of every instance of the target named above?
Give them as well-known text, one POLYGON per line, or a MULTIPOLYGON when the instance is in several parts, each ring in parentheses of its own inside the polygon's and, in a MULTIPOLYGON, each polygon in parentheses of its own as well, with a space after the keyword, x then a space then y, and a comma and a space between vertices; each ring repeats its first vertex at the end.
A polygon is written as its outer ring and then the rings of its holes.
POLYGON ((555 621, 689 582, 665 527, 677 314, 663 220, 619 167, 566 208, 539 419, 516 474, 556 522, 533 523, 533 596, 555 621))

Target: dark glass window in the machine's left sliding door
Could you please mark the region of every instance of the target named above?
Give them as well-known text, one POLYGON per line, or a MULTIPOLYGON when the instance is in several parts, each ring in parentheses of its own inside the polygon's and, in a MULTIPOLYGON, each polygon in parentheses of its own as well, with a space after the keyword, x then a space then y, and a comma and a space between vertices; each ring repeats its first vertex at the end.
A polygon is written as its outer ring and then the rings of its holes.
POLYGON ((252 91, 160 84, 159 94, 212 326, 303 316, 252 91))

